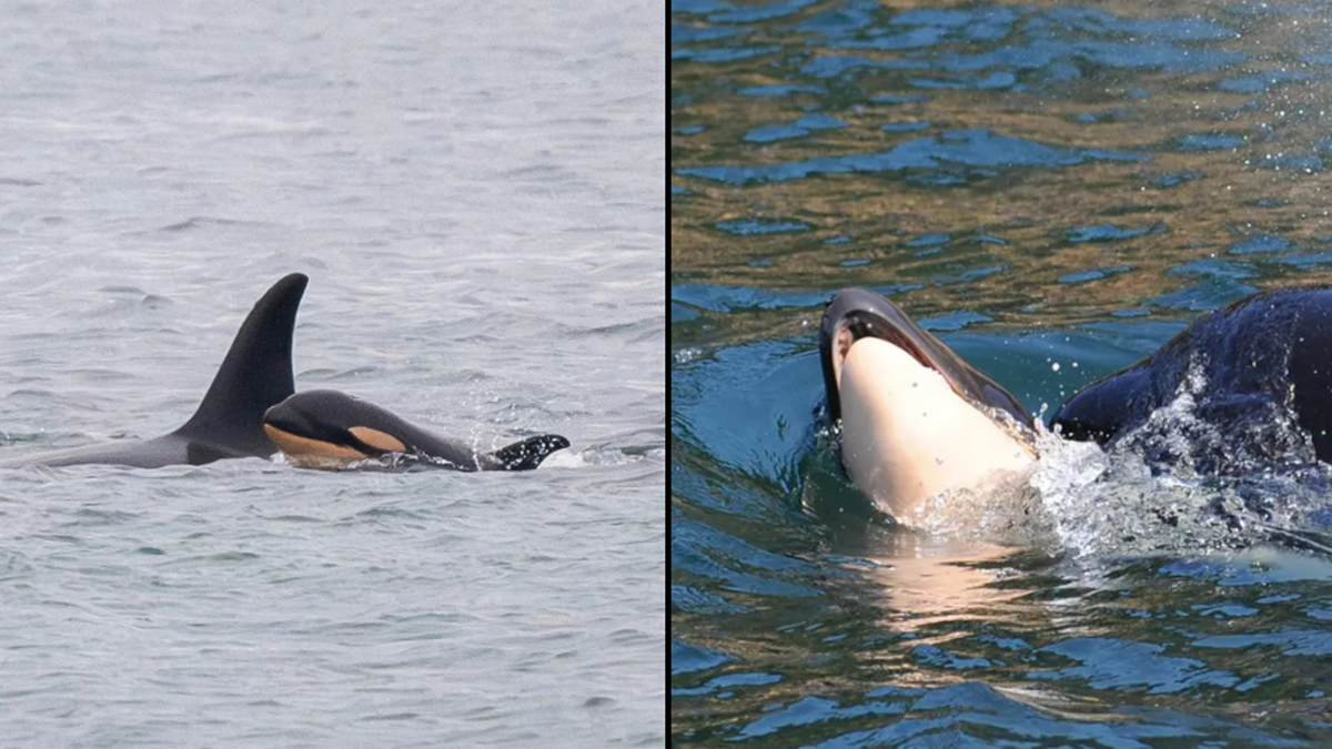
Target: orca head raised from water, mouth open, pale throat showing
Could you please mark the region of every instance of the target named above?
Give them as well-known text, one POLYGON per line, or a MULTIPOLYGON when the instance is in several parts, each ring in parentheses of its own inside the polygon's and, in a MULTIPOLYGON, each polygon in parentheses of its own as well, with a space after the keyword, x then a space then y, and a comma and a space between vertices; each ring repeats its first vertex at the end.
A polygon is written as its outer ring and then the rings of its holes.
POLYGON ((947 489, 1035 460, 1031 414, 887 299, 838 292, 823 313, 827 416, 851 481, 906 517, 947 489))

